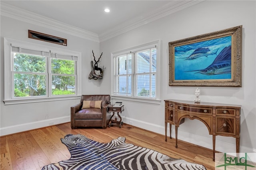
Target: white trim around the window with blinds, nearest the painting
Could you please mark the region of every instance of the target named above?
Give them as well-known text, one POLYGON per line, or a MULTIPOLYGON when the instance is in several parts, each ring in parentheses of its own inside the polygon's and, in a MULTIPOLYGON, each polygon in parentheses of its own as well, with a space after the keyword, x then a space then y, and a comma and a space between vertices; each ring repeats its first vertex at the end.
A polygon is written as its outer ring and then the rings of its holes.
POLYGON ((127 101, 138 101, 143 103, 153 103, 153 104, 160 104, 160 85, 161 85, 161 77, 160 77, 160 63, 161 63, 161 40, 156 40, 153 42, 145 43, 142 45, 130 47, 127 49, 123 49, 120 51, 115 51, 111 53, 111 96, 112 99, 120 99, 120 100, 127 100, 127 101), (135 51, 141 51, 144 49, 147 49, 149 47, 152 47, 152 45, 156 45, 156 51, 157 51, 157 58, 156 58, 156 99, 150 99, 150 98, 140 98, 140 97, 129 97, 129 96, 123 96, 123 95, 116 95, 114 94, 114 57, 117 55, 123 55, 126 53, 135 52, 135 51))

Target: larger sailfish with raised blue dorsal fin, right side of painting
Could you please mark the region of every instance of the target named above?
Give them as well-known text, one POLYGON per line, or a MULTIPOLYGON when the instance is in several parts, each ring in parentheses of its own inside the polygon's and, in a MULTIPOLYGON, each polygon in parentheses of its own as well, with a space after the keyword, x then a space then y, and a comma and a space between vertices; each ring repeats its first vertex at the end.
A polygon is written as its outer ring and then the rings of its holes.
MULTIPOLYGON (((217 75, 231 73, 231 45, 220 51, 211 65, 205 69, 193 70, 204 75, 217 75)), ((191 71, 186 71, 191 72, 191 71)))

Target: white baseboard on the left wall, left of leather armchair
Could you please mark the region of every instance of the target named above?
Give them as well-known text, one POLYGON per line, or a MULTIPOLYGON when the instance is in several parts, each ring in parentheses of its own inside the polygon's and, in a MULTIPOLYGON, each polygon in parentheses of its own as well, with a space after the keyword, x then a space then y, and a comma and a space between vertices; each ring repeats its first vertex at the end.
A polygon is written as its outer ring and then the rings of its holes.
POLYGON ((3 128, 0 128, 0 136, 14 134, 18 132, 24 132, 27 130, 33 130, 33 129, 42 128, 42 127, 48 127, 51 125, 57 125, 57 124, 66 123, 66 122, 70 122, 70 116, 58 117, 54 119, 47 119, 47 120, 36 121, 31 123, 24 123, 20 125, 9 126, 9 127, 3 127, 3 128))

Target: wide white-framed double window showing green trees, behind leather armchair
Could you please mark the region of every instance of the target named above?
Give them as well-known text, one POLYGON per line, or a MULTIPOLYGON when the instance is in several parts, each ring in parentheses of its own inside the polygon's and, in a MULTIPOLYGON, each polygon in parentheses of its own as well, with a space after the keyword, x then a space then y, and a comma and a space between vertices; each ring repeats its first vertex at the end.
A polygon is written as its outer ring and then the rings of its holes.
POLYGON ((80 95, 81 53, 6 38, 4 49, 5 104, 80 95))

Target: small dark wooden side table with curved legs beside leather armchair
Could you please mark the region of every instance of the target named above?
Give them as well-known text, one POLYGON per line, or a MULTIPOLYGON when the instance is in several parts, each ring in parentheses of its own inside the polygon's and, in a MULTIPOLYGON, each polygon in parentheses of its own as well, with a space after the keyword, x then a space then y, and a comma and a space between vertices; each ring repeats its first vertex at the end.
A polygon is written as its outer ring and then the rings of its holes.
POLYGON ((110 127, 111 125, 119 125, 119 128, 122 127, 122 125, 123 125, 122 117, 119 115, 119 113, 122 113, 122 111, 124 111, 124 105, 121 105, 119 107, 113 106, 113 105, 108 106, 108 112, 113 112, 113 114, 110 117, 110 120, 108 122, 108 127, 110 127), (112 117, 115 115, 115 112, 117 113, 118 117, 120 118, 119 121, 117 120, 117 117, 115 119, 112 119, 112 117))

